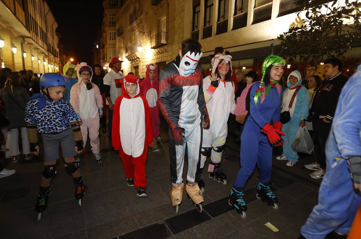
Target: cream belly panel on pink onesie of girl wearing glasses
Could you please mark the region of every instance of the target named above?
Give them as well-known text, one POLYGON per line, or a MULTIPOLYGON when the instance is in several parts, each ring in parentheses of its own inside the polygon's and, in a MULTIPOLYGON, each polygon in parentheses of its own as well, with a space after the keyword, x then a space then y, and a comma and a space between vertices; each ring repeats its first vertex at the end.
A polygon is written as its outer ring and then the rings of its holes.
POLYGON ((82 84, 79 100, 81 119, 94 118, 98 115, 94 89, 87 90, 86 85, 82 84))

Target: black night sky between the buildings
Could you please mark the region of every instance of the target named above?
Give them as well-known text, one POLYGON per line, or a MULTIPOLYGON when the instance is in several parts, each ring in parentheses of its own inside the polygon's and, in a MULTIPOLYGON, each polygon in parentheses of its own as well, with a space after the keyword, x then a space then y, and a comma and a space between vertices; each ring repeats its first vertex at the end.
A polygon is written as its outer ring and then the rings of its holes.
POLYGON ((90 64, 93 42, 103 20, 103 0, 96 1, 47 1, 58 23, 65 56, 76 62, 90 64))

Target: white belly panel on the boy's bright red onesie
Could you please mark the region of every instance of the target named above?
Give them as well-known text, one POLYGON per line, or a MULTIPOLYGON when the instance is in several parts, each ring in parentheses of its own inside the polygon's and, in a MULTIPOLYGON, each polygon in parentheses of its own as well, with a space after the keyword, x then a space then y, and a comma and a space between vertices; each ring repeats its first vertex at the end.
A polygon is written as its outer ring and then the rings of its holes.
POLYGON ((134 158, 144 151, 145 113, 142 98, 123 98, 119 107, 119 135, 123 151, 134 158))

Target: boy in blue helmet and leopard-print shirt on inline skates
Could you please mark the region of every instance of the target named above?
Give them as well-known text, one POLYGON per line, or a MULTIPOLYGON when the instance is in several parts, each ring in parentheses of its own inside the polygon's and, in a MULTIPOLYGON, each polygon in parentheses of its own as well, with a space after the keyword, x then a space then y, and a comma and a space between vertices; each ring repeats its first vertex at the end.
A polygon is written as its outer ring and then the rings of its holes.
POLYGON ((35 210, 40 220, 50 196, 50 182, 56 173, 59 144, 65 168, 73 175, 75 199, 82 203, 85 194, 84 180, 74 156, 83 151, 82 134, 78 116, 69 102, 63 99, 66 81, 61 75, 46 73, 40 77, 40 92, 34 94, 26 104, 25 121, 32 154, 39 155, 38 132, 44 145, 44 170, 35 210))

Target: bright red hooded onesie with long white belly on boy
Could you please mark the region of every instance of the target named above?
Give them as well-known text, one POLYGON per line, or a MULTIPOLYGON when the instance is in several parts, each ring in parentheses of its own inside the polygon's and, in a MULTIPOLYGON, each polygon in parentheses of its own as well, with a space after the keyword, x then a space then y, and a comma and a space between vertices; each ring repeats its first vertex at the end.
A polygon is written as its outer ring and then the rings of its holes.
POLYGON ((140 95, 139 80, 134 75, 127 75, 124 84, 137 84, 136 95, 131 98, 122 87, 123 94, 114 105, 112 143, 123 162, 127 178, 134 177, 136 188, 147 188, 145 179, 145 161, 148 145, 153 142, 152 121, 147 99, 140 95), (134 167, 134 169, 133 169, 134 167))

